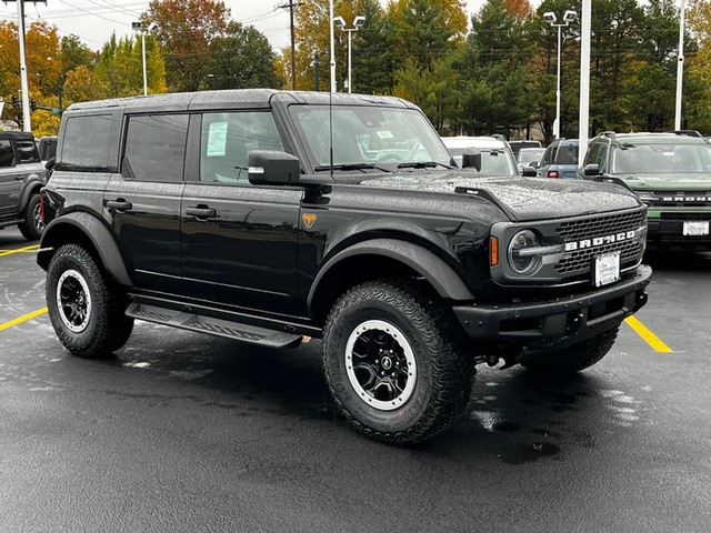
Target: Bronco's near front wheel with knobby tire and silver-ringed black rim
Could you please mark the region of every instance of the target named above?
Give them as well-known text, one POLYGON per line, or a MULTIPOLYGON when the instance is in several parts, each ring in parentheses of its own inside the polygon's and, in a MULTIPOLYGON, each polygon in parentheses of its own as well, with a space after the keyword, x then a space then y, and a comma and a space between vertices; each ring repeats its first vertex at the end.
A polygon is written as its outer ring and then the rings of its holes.
POLYGON ((348 421, 392 444, 449 428, 471 394, 474 361, 451 312, 413 282, 381 280, 348 291, 324 326, 323 369, 348 421))

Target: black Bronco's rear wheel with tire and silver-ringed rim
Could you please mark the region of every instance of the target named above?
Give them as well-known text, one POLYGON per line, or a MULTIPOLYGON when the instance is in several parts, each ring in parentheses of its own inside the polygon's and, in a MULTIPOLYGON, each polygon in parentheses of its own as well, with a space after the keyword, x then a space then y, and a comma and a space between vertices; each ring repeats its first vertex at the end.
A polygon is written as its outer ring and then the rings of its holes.
POLYGON ((61 343, 80 358, 102 358, 121 348, 133 330, 124 315, 126 293, 78 244, 62 245, 47 269, 47 306, 61 343))

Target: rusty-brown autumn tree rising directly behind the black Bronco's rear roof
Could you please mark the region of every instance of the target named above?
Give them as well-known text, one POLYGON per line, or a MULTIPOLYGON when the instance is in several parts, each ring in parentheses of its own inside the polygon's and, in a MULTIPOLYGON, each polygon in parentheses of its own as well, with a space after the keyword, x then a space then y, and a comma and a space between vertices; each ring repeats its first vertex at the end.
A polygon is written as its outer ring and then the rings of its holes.
POLYGON ((144 28, 158 24, 156 36, 166 51, 166 76, 173 91, 197 91, 207 79, 210 43, 223 36, 230 18, 216 0, 151 0, 141 16, 144 28))

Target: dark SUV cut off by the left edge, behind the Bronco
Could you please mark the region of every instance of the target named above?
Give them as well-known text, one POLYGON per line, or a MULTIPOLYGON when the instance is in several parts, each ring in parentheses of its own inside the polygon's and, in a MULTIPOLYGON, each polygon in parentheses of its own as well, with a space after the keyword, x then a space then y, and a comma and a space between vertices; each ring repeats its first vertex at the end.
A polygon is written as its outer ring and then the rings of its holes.
POLYGON ((0 131, 0 230, 17 225, 26 239, 40 238, 44 229, 40 190, 46 182, 34 135, 0 131))

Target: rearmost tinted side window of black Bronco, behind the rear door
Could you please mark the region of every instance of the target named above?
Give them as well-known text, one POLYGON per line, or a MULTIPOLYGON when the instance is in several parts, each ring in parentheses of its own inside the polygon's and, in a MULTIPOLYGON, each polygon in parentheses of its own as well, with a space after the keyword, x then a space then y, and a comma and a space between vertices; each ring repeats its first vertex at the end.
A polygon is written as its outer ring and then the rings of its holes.
POLYGON ((72 117, 64 125, 61 168, 78 171, 106 170, 111 141, 110 114, 72 117))

